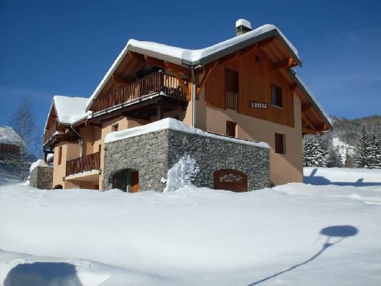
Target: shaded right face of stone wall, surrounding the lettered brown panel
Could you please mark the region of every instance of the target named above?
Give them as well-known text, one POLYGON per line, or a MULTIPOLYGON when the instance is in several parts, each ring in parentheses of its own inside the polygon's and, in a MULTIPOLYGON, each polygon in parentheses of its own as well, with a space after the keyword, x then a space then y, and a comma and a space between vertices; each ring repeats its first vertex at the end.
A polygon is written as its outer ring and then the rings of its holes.
POLYGON ((245 173, 248 176, 248 190, 269 186, 270 149, 192 133, 172 130, 168 133, 169 168, 184 155, 195 158, 200 168, 193 183, 195 186, 214 188, 213 173, 220 169, 245 173))

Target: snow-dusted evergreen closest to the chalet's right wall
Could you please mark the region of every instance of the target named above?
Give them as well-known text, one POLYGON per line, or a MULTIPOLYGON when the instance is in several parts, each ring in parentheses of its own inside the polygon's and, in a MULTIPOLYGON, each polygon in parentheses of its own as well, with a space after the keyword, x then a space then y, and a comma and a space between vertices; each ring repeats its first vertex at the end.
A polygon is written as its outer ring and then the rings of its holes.
POLYGON ((326 142, 318 135, 305 135, 303 139, 303 166, 326 167, 328 148, 326 142))

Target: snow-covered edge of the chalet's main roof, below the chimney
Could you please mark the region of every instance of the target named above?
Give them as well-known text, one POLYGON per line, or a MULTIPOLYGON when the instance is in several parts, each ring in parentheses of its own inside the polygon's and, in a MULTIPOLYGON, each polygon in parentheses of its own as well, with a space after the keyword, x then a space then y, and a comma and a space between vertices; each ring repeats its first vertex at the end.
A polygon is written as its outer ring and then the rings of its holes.
POLYGON ((276 26, 270 24, 263 25, 245 34, 235 36, 232 39, 228 39, 221 43, 217 43, 199 50, 188 50, 181 47, 173 47, 171 45, 131 39, 127 42, 127 45, 124 47, 122 52, 120 52, 113 65, 111 65, 109 71, 100 81, 98 87, 96 87, 89 100, 87 100, 86 111, 89 110, 92 100, 100 94, 100 91, 102 91, 103 87, 105 87, 106 83, 109 81, 109 78, 111 78, 112 74, 116 71, 122 59, 129 51, 138 52, 147 56, 153 56, 154 58, 159 58, 177 65, 206 65, 207 63, 215 61, 218 58, 235 52, 235 50, 243 49, 244 47, 248 47, 249 45, 263 41, 264 39, 268 39, 272 36, 278 36, 294 55, 294 58, 298 64, 301 65, 301 60, 298 56, 298 50, 296 50, 296 47, 292 45, 292 43, 278 28, 276 28, 276 26))

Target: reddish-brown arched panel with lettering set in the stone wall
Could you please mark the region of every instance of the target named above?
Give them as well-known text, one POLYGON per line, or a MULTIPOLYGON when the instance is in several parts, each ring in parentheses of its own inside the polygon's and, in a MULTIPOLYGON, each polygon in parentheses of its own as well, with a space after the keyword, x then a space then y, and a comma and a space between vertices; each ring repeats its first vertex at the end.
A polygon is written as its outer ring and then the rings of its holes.
POLYGON ((221 169, 214 173, 215 189, 246 192, 248 190, 248 176, 239 170, 221 169))

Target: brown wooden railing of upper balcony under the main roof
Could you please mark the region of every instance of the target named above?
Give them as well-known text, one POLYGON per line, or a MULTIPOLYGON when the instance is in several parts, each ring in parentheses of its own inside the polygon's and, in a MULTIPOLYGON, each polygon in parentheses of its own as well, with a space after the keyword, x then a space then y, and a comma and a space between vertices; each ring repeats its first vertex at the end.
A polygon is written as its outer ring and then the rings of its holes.
POLYGON ((155 72, 146 76, 135 83, 123 85, 107 94, 102 94, 94 99, 92 111, 94 113, 107 111, 120 107, 122 104, 141 100, 153 94, 163 92, 167 96, 186 100, 185 91, 179 85, 175 76, 155 72))

